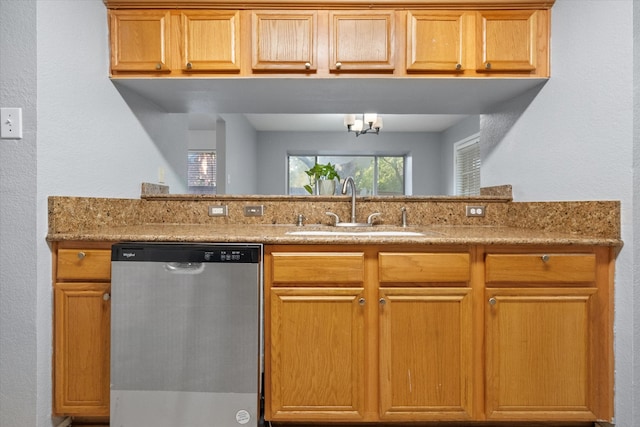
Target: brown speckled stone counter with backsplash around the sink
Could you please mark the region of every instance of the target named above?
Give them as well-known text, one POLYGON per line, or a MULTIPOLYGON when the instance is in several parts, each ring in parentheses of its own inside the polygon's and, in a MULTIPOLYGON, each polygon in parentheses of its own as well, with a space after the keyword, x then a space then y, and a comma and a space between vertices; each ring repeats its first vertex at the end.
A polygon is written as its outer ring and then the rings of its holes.
MULTIPOLYGON (((357 217, 380 212, 372 230, 413 231, 419 236, 293 235, 302 230, 337 230, 334 212, 346 220, 345 196, 180 196, 142 199, 49 198, 49 232, 54 241, 259 242, 265 244, 433 244, 433 245, 605 245, 621 246, 617 201, 516 203, 492 196, 357 198, 357 217), (209 206, 228 215, 210 217, 209 206), (262 205, 261 217, 244 216, 244 206, 262 205), (483 205, 486 215, 470 218, 465 206, 483 205), (402 228, 401 208, 409 227, 402 228), (305 225, 297 226, 298 215, 305 225)), ((366 231, 366 230, 365 230, 366 231)))

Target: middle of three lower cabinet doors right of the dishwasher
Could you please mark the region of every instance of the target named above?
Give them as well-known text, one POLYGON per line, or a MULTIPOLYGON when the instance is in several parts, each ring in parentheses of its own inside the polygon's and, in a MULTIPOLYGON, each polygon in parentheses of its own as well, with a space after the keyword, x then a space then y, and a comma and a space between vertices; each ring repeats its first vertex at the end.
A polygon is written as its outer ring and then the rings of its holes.
POLYGON ((472 415, 470 288, 381 288, 380 417, 472 415))

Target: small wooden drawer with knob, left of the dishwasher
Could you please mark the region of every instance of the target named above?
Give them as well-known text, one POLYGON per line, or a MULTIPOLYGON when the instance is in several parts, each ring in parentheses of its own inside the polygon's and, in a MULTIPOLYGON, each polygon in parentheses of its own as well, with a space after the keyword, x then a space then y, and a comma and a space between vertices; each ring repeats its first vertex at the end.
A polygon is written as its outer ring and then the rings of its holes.
POLYGON ((110 280, 108 249, 59 249, 57 280, 110 280))

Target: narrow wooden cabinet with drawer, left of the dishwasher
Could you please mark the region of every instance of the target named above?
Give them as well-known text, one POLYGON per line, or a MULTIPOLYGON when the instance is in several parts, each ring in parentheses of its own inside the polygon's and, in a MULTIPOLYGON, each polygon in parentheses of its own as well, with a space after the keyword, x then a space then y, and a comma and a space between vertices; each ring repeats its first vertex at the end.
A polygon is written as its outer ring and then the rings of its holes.
POLYGON ((53 412, 109 415, 111 251, 54 245, 53 412))

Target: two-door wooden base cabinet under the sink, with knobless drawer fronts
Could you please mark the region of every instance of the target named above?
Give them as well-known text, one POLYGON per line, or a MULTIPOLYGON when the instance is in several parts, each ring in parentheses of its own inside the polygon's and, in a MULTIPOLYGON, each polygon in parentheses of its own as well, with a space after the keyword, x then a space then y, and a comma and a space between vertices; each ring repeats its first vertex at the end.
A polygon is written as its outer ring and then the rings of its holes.
POLYGON ((468 249, 379 249, 265 248, 268 420, 472 419, 468 249))

